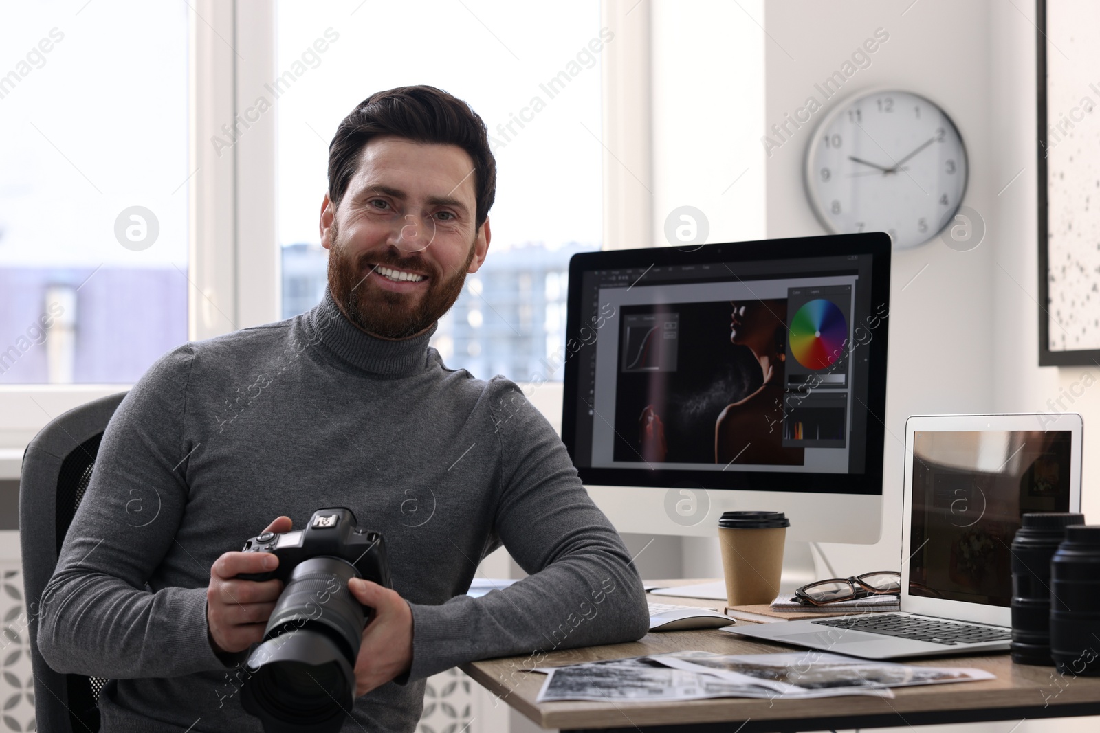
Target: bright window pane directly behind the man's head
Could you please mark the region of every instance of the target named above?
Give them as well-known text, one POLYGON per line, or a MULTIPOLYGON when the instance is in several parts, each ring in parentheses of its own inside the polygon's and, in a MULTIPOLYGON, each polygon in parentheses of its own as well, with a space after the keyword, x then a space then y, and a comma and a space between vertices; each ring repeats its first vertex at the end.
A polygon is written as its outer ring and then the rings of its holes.
POLYGON ((350 8, 278 5, 277 74, 295 79, 278 97, 284 318, 312 308, 327 282, 318 215, 340 120, 375 91, 427 84, 482 116, 497 163, 488 257, 432 345, 476 377, 560 380, 569 258, 601 244, 600 52, 608 41, 600 3, 350 8))

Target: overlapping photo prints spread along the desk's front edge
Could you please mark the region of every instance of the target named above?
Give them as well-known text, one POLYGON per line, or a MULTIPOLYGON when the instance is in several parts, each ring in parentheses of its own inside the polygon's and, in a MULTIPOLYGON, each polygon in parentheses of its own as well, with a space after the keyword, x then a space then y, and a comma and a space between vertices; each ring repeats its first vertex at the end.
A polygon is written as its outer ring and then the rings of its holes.
POLYGON ((682 701, 704 698, 893 697, 889 688, 990 679, 980 669, 909 667, 833 654, 717 655, 675 652, 539 668, 549 676, 536 702, 682 701))

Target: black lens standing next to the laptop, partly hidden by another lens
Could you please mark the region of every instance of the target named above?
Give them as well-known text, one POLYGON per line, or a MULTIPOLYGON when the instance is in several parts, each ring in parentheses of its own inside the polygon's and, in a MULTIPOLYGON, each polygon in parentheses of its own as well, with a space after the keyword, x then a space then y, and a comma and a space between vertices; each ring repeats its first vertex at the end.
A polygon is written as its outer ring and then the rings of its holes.
POLYGON ((1085 514, 1024 514, 1012 540, 1012 660, 1053 665, 1050 658, 1050 556, 1070 524, 1085 514))

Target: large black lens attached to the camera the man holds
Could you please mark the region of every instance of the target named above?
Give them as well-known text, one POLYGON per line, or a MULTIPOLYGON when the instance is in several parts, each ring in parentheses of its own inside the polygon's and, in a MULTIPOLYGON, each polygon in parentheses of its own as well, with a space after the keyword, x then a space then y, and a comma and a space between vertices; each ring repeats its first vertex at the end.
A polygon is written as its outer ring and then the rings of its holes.
POLYGON ((339 731, 351 712, 355 658, 367 617, 348 590, 346 560, 314 557, 290 574, 249 657, 244 709, 267 733, 339 731))

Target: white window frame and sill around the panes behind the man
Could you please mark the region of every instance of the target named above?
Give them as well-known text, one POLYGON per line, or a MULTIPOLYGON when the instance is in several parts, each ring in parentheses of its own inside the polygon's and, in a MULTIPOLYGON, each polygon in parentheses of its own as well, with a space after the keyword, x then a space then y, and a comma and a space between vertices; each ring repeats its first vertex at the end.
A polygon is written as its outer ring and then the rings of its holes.
MULTIPOLYGON (((239 122, 276 71, 276 0, 193 0, 188 11, 188 338, 282 316, 276 218, 277 107, 239 122), (227 40, 232 40, 232 45, 227 40), (211 137, 237 121, 221 155, 211 137)), ((615 32, 602 59, 604 248, 653 246, 650 13, 636 0, 602 0, 615 32)), ((274 101, 277 105, 277 100, 274 101)), ((26 444, 51 420, 131 384, 0 385, 0 479, 18 478, 26 444)), ((560 421, 560 385, 521 384, 560 421)))

